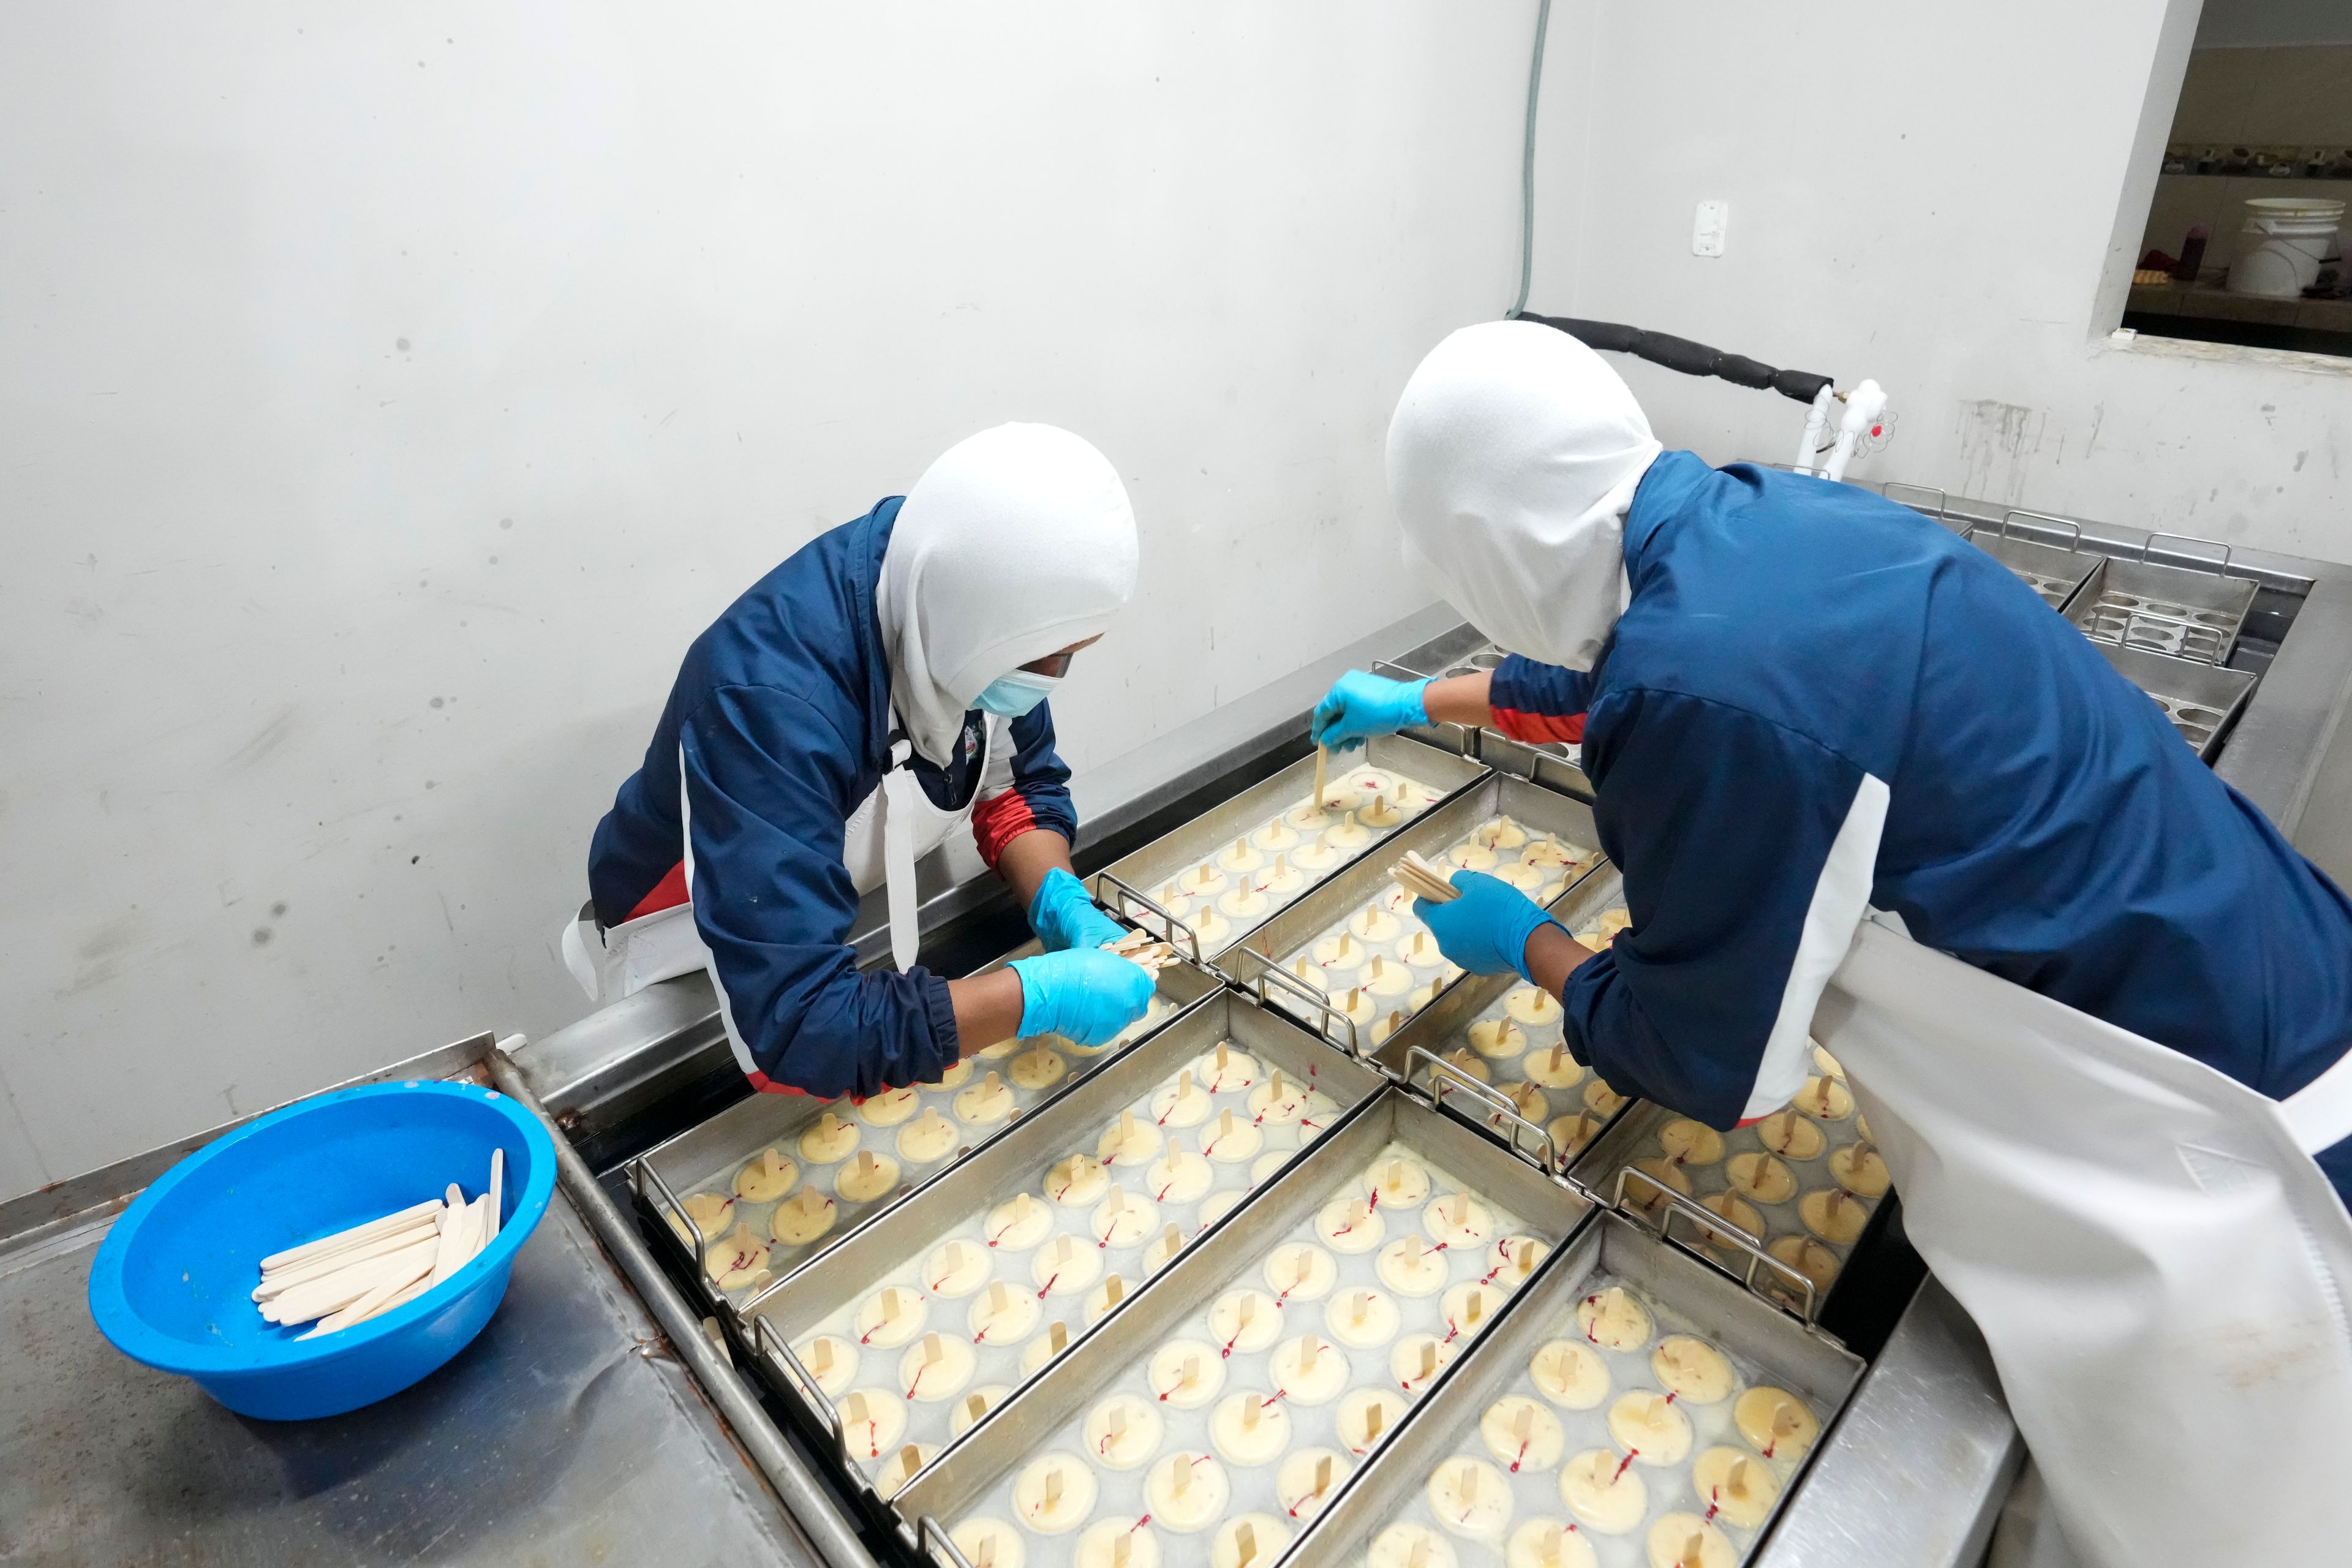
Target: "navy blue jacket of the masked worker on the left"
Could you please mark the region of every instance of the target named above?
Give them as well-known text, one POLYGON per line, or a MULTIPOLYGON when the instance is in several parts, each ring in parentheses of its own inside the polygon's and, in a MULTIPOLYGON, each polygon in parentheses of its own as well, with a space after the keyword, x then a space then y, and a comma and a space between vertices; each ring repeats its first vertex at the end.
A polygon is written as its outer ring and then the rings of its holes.
MULTIPOLYGON (((844 827, 882 783, 894 729, 875 583, 896 517, 891 496, 818 534, 694 639, 644 764, 588 849, 602 926, 694 900, 729 1044, 760 1088, 870 1095, 931 1081, 960 1053, 943 978, 920 966, 858 973, 847 947, 858 896, 844 827)), ((913 771, 943 809, 981 792, 981 856, 995 865, 1033 827, 1075 839, 1049 708, 1011 722, 1009 771, 1000 757, 981 778, 978 741, 971 712, 950 766, 917 757, 913 771)))

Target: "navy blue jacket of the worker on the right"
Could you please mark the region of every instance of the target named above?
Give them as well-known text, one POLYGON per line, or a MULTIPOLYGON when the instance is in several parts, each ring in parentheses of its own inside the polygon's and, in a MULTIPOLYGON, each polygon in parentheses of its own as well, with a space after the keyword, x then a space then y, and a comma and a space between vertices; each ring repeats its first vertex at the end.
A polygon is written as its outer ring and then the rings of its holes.
MULTIPOLYGON (((1590 675, 1494 677, 1534 738, 1585 715, 1632 926, 1569 980, 1566 1034, 1616 1088, 1757 1114, 1865 778, 1870 903, 1912 938, 2274 1098, 2352 1046, 2352 905, 1990 555, 1853 487, 1670 451, 1625 574, 1590 675)), ((2321 1164, 2352 1190, 2352 1143, 2321 1164)))

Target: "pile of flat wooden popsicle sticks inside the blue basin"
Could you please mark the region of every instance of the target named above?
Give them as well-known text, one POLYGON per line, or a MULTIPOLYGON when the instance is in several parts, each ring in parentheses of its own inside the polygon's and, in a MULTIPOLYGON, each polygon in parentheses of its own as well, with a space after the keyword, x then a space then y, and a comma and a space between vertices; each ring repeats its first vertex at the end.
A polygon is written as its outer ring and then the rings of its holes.
POLYGON ((306 1340, 405 1307, 489 1246, 503 1190, 506 1150, 492 1150, 489 1187, 470 1204, 449 1182, 445 1197, 270 1253, 254 1302, 273 1324, 318 1324, 306 1340))

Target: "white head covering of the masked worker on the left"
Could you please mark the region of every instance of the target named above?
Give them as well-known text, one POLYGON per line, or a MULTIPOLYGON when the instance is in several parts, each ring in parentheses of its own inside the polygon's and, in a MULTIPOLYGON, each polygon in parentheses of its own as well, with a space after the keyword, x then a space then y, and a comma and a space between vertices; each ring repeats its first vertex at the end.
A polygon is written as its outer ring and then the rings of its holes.
POLYGON ((1120 473, 1054 425, 948 447, 882 552, 882 649, 908 741, 948 762, 988 682, 1084 642, 1136 592, 1136 512, 1120 473))

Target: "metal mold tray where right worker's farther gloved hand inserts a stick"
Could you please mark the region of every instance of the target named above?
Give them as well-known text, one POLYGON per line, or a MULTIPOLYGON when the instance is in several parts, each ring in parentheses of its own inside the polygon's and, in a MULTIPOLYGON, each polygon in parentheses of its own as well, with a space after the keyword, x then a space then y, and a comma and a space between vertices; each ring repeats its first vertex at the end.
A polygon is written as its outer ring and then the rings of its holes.
POLYGON ((1331 757, 1324 783, 1334 799, 1355 799, 1364 809, 1381 797, 1383 811, 1374 816, 1383 820, 1364 820, 1367 811, 1357 806, 1319 813, 1329 823, 1312 820, 1315 757, 1301 757, 1105 865, 1089 884, 1105 910, 1214 964, 1277 912, 1482 776, 1479 764, 1454 752, 1404 736, 1376 736, 1362 757, 1331 757), (1388 811, 1395 816, 1388 818, 1388 811))

